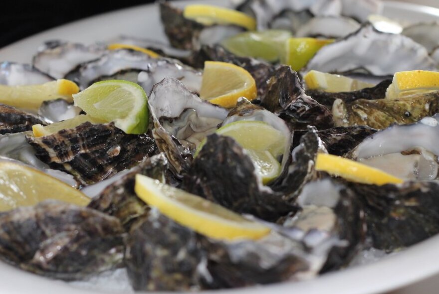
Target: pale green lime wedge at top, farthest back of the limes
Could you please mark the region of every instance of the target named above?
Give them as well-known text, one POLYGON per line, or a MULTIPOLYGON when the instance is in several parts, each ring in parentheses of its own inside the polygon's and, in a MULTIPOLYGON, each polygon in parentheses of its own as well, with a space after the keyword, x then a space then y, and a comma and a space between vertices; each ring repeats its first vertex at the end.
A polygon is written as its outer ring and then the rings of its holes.
POLYGON ((251 56, 274 62, 284 54, 285 41, 291 36, 291 32, 287 30, 243 32, 223 40, 221 45, 238 56, 251 56))

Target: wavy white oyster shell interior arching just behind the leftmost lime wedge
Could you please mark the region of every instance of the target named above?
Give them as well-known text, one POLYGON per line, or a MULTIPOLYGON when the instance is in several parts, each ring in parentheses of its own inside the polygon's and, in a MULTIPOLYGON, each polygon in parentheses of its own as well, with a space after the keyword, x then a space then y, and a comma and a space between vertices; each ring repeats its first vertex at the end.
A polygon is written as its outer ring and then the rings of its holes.
POLYGON ((139 82, 146 93, 150 93, 153 85, 165 77, 178 78, 195 92, 199 92, 201 87, 201 72, 178 60, 152 58, 145 53, 128 49, 109 51, 67 75, 81 89, 99 80, 115 78, 139 82))

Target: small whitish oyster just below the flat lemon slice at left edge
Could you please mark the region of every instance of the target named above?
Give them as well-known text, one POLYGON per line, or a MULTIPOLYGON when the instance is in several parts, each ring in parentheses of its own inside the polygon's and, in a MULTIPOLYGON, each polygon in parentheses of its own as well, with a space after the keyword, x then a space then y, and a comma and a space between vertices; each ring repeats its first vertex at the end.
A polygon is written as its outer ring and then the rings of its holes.
POLYGON ((72 119, 80 115, 82 109, 73 106, 65 99, 44 101, 38 109, 38 115, 48 124, 72 119))

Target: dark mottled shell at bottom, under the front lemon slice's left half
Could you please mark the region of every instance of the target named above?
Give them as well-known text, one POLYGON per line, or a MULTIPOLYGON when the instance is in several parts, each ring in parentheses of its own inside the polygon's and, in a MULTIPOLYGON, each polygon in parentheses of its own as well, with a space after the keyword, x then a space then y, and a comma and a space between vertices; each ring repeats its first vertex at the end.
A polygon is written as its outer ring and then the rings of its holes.
MULTIPOLYGON (((153 211, 139 219, 126 240, 125 265, 136 291, 199 288, 199 265, 206 254, 190 229, 153 211)), ((204 261, 206 263, 206 261, 204 261)))

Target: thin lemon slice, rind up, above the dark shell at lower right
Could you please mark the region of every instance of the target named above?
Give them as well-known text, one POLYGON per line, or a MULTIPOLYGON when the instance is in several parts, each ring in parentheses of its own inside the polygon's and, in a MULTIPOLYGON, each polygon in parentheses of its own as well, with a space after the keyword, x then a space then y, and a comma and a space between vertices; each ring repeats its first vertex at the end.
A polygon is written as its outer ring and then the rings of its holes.
POLYGON ((404 182, 402 179, 380 169, 331 154, 318 154, 315 169, 364 184, 384 185, 404 182))

